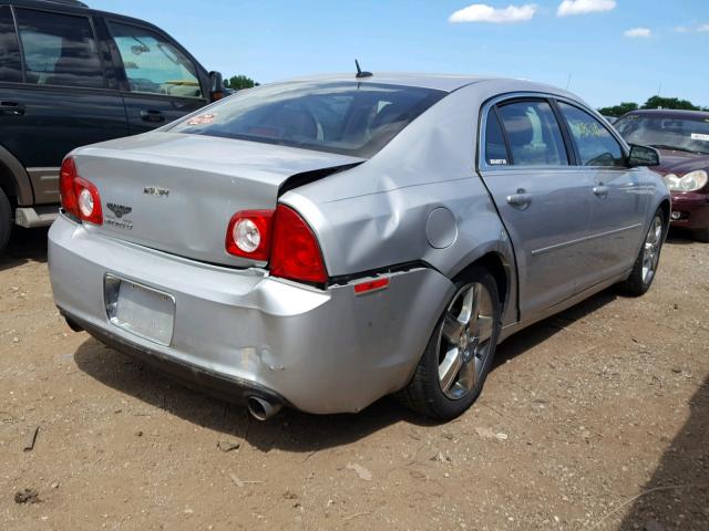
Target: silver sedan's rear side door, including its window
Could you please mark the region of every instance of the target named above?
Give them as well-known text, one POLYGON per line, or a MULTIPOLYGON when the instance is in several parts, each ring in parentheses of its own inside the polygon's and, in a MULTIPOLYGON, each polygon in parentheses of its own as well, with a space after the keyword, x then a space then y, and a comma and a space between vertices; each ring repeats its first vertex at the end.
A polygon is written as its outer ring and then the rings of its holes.
POLYGON ((480 174, 512 239, 521 320, 564 301, 586 274, 593 179, 549 101, 524 97, 483 110, 480 174))

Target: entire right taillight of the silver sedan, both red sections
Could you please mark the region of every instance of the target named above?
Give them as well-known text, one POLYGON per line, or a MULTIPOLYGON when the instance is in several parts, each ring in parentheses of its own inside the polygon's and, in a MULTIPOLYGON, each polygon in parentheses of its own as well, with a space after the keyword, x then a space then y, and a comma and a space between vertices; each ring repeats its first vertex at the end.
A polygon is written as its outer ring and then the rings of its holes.
POLYGON ((323 283, 328 273, 315 233, 294 209, 245 210, 232 217, 226 251, 236 257, 269 261, 274 277, 323 283))

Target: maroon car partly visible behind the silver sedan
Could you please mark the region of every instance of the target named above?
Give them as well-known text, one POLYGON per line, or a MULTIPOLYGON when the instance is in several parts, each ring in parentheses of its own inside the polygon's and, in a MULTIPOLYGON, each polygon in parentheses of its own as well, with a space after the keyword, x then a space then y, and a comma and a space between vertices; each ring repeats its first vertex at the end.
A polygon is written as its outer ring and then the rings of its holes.
POLYGON ((613 125, 629 144, 660 152, 661 165, 653 169, 672 195, 672 225, 709 242, 709 113, 633 111, 613 125))

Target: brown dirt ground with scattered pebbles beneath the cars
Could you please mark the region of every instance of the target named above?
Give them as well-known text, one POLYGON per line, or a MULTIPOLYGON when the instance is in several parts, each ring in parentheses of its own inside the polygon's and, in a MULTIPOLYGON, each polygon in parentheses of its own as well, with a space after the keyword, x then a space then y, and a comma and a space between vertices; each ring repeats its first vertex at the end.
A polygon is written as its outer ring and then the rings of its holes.
POLYGON ((709 530, 709 244, 505 342, 453 423, 258 423, 71 332, 45 236, 0 258, 2 530, 709 530))

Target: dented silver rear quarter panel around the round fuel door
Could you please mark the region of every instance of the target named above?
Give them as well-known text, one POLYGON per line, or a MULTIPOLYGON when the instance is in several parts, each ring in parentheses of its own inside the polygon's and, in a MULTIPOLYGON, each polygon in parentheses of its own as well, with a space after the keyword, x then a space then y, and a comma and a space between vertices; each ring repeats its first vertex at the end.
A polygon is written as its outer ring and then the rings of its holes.
POLYGON ((330 275, 422 260, 452 279, 495 252, 511 264, 514 299, 504 321, 516 320, 514 253, 475 171, 479 108, 496 88, 479 85, 444 97, 370 160, 280 198, 312 226, 330 275), (425 235, 436 208, 456 220, 458 237, 444 249, 434 249, 425 235))

